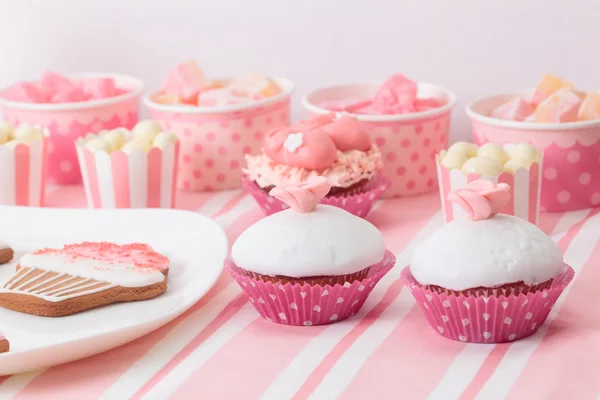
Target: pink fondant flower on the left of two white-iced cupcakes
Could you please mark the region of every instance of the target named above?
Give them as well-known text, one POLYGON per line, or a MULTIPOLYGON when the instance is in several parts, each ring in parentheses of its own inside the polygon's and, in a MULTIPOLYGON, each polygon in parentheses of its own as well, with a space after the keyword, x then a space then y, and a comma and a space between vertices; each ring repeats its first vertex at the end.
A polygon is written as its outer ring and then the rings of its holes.
POLYGON ((330 189, 327 178, 319 176, 304 184, 277 186, 269 194, 286 203, 292 210, 305 213, 314 210, 330 189))

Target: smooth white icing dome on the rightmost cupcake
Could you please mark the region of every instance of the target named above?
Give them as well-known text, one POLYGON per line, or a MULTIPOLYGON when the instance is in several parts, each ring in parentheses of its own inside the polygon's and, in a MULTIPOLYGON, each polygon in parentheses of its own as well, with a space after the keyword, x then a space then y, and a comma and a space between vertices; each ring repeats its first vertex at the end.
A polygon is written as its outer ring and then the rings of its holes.
POLYGON ((533 285, 560 275, 560 248, 537 226, 498 214, 483 221, 454 220, 428 237, 410 271, 422 285, 451 290, 533 285))

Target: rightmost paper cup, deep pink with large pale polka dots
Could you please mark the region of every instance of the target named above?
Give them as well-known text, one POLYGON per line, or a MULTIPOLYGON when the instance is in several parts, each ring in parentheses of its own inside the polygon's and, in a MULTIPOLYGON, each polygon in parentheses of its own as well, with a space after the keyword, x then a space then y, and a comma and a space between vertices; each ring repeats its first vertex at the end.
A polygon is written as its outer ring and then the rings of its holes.
POLYGON ((514 96, 487 97, 467 106, 475 143, 528 142, 544 152, 542 211, 600 205, 600 120, 535 123, 488 116, 496 106, 514 96))

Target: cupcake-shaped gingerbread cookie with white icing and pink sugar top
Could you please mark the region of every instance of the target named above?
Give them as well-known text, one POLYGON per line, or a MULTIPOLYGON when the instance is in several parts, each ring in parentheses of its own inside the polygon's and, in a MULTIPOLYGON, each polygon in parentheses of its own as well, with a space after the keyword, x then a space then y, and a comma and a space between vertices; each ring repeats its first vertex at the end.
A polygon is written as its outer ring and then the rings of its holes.
POLYGON ((19 260, 0 287, 0 306, 60 317, 167 290, 169 259, 146 244, 85 242, 42 249, 19 260))

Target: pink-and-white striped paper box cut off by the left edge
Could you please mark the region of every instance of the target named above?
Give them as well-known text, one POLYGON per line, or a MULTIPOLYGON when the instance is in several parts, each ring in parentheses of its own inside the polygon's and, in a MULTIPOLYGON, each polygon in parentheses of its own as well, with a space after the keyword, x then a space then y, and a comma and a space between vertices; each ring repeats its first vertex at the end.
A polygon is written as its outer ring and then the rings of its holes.
POLYGON ((0 145, 0 205, 44 205, 47 139, 0 145))

